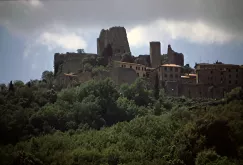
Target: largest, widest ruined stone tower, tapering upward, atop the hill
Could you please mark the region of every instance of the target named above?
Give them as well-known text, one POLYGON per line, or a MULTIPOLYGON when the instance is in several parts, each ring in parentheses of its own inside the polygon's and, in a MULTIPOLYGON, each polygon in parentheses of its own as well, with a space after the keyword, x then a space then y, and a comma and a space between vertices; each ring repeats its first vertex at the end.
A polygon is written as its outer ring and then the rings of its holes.
POLYGON ((108 44, 111 44, 113 54, 131 52, 124 27, 112 27, 107 30, 101 30, 100 36, 97 39, 98 55, 102 54, 108 44))

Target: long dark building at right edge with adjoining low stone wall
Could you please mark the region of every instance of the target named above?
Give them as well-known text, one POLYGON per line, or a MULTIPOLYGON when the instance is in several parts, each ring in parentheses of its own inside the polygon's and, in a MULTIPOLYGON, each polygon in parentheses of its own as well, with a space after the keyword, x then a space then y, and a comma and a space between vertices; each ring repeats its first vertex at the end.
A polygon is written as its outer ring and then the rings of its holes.
POLYGON ((226 92, 243 87, 243 68, 222 63, 197 64, 196 74, 182 76, 181 82, 167 82, 164 87, 167 94, 172 96, 222 98, 226 92), (191 81, 186 81, 185 77, 191 81))

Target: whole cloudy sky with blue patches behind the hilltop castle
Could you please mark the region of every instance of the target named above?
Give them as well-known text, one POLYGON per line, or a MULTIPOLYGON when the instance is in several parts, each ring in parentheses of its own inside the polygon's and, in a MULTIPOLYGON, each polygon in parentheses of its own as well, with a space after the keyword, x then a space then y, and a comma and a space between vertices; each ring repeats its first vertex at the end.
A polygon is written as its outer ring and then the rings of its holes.
POLYGON ((168 44, 185 62, 243 64, 242 0, 0 1, 0 82, 40 78, 55 52, 96 53, 102 28, 124 26, 133 55, 168 44))

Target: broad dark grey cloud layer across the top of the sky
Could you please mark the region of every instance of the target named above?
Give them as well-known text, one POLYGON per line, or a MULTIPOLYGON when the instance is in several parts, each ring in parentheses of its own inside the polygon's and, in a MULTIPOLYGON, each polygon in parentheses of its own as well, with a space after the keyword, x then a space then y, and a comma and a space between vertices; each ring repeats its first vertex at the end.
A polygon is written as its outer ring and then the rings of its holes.
POLYGON ((243 35, 242 0, 68 0, 41 1, 42 7, 0 2, 0 23, 23 32, 63 24, 70 28, 132 27, 157 19, 202 21, 243 35), (6 24, 8 23, 8 24, 6 24))

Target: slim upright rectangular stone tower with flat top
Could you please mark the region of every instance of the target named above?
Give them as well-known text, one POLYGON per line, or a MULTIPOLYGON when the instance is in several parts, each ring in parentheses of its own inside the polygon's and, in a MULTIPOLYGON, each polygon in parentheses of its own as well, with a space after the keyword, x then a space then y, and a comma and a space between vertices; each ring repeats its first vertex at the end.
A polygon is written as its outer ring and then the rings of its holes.
POLYGON ((157 68, 161 65, 160 42, 150 42, 150 63, 152 68, 157 68))

